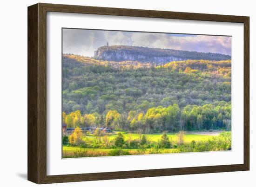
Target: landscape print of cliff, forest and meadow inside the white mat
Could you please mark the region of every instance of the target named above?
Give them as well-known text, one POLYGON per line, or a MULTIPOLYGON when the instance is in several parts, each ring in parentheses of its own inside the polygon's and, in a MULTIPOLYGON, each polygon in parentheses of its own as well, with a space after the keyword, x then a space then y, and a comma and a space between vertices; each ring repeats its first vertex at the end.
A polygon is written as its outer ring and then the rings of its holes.
POLYGON ((62 158, 230 151, 231 40, 62 28, 62 158))

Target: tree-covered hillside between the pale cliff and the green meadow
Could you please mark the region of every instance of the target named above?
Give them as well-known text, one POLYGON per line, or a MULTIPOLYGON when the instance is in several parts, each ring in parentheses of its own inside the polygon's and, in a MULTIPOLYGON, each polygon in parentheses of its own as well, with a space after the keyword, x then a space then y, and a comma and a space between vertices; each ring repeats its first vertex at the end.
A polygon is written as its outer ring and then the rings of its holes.
POLYGON ((62 98, 68 127, 230 129, 231 60, 152 65, 64 54, 62 98))

